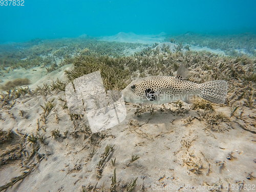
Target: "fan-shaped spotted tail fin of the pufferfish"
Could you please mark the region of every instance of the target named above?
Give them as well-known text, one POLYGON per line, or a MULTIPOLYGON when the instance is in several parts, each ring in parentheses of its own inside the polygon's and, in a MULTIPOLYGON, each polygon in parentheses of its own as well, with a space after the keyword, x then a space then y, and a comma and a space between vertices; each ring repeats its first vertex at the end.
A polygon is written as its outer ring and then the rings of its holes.
POLYGON ((214 80, 201 83, 200 96, 214 103, 224 103, 227 97, 227 82, 214 80))

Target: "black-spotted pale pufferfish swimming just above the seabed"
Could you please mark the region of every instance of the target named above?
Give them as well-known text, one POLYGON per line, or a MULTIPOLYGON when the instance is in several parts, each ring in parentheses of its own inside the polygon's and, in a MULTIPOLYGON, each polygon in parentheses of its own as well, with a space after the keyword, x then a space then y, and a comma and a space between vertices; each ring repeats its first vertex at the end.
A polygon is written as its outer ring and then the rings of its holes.
POLYGON ((121 92, 124 101, 136 104, 163 104, 176 100, 191 103, 195 95, 214 103, 224 103, 227 95, 226 81, 195 83, 184 80, 188 77, 189 71, 181 64, 176 76, 144 77, 132 81, 121 92))

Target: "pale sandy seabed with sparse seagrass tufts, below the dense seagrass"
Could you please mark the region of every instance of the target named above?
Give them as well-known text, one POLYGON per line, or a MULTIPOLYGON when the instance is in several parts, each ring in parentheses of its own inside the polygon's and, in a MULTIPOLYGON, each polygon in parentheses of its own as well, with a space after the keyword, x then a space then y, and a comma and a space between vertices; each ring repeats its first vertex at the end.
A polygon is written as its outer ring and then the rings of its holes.
MULTIPOLYGON (((103 40, 120 38, 128 37, 119 34, 103 40)), ((134 36, 132 42, 136 39, 142 38, 134 36)), ((153 41, 147 40, 140 42, 153 41)), ((171 50, 174 46, 166 45, 171 50)), ((195 46, 191 49, 200 51, 195 46)), ((224 55, 221 50, 207 51, 224 55)), ((34 82, 30 85, 33 90, 57 78, 68 82, 63 71, 70 69, 72 65, 66 65, 48 74, 41 68, 17 69, 3 80, 28 77, 34 82)), ((256 109, 254 103, 253 108, 242 110, 245 98, 236 100, 241 109, 234 114, 226 104, 212 104, 214 114, 228 117, 221 122, 212 116, 203 118, 206 109, 183 102, 126 103, 125 120, 96 134, 84 128, 88 127, 86 115, 71 118, 59 98, 65 100, 65 92, 24 96, 11 109, 1 109, 0 186, 14 183, 5 191, 256 190, 256 109), (56 105, 45 122, 38 123, 45 114, 40 105, 47 101, 56 105), (32 134, 42 139, 34 141, 32 134), (15 160, 21 149, 22 157, 15 160), (9 155, 3 156, 6 153, 9 155), (8 158, 13 161, 5 163, 8 158)))

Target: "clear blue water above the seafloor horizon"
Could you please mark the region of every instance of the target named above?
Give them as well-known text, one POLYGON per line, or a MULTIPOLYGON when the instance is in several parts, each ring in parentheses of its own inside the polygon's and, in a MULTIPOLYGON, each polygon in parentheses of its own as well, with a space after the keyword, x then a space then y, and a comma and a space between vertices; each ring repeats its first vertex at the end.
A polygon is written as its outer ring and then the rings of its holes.
POLYGON ((0 6, 0 42, 32 38, 256 32, 256 1, 24 0, 0 6))

